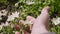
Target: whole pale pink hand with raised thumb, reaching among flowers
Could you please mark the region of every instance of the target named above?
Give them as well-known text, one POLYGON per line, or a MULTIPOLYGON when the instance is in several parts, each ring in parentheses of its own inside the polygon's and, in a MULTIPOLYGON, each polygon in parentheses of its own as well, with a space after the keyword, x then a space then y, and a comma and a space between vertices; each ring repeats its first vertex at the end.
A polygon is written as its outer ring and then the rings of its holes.
MULTIPOLYGON (((41 11, 41 14, 34 18, 32 16, 28 16, 26 20, 31 21, 33 23, 33 26, 30 26, 31 34, 41 34, 41 33, 47 33, 49 32, 49 11, 50 7, 44 7, 41 11)), ((21 20, 21 22, 25 25, 25 21, 21 20)), ((19 33, 15 33, 19 34, 19 33)), ((25 34, 29 34, 25 31, 25 34)))

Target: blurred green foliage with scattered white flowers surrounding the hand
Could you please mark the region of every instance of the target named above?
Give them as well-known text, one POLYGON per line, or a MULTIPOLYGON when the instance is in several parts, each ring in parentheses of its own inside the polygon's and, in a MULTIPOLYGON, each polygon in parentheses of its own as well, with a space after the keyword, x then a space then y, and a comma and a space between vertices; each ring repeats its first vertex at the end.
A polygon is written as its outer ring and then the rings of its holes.
POLYGON ((36 18, 45 6, 50 6, 50 31, 60 34, 60 0, 0 0, 0 34, 30 32, 29 26, 25 27, 20 20, 26 20, 28 15, 36 18))

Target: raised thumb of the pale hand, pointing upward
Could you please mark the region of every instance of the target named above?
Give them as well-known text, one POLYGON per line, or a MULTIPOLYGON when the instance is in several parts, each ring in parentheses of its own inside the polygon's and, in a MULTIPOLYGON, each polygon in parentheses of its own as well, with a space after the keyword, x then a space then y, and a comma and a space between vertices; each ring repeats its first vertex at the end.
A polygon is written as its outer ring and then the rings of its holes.
POLYGON ((43 19, 47 20, 49 18, 49 14, 48 14, 49 9, 50 9, 49 6, 44 7, 42 9, 41 14, 37 17, 37 20, 43 20, 43 19))

